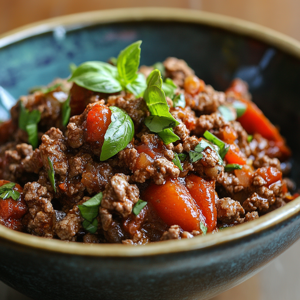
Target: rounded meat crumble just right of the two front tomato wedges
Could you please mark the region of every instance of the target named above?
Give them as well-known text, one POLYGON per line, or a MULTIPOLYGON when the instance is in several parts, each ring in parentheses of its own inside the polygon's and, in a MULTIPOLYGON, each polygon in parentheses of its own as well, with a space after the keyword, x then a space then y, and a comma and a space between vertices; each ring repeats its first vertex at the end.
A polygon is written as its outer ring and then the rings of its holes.
POLYGON ((245 214, 241 204, 229 197, 217 199, 216 208, 217 220, 225 224, 239 222, 241 219, 240 216, 245 214))

